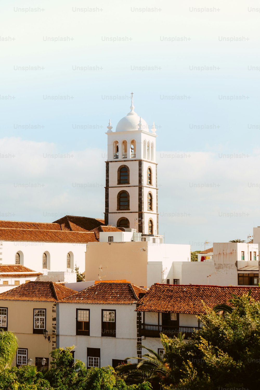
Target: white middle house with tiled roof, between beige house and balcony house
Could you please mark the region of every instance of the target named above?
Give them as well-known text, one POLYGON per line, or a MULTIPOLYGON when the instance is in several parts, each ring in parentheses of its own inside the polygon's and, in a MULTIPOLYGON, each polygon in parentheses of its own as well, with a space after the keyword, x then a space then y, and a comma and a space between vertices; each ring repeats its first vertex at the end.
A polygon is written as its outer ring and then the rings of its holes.
POLYGON ((97 283, 57 304, 57 347, 75 345, 87 367, 116 367, 137 355, 136 303, 145 289, 131 283, 97 283))

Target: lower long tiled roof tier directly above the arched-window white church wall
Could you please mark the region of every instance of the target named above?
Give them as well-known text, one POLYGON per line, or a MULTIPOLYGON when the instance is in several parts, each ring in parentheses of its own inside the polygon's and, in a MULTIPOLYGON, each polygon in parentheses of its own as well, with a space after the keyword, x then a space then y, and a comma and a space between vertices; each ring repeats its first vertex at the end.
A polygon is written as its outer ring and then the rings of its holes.
POLYGON ((61 230, 0 229, 2 241, 37 241, 87 243, 97 241, 93 232, 64 232, 61 230))

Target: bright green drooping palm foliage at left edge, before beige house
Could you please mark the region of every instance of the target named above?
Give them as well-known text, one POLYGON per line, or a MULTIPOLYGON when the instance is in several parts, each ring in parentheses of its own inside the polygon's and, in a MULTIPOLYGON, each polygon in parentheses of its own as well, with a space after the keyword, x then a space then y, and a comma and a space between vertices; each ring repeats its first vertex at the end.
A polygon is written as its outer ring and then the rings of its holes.
POLYGON ((18 349, 17 337, 12 332, 0 331, 0 368, 11 366, 18 349))

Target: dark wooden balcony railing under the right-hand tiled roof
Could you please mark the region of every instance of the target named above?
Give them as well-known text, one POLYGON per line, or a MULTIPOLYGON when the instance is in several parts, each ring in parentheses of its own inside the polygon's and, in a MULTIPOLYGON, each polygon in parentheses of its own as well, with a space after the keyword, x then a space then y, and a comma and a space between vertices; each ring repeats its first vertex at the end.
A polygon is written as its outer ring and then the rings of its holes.
POLYGON ((141 324, 140 335, 147 337, 159 337, 159 333, 164 333, 169 337, 177 336, 179 333, 185 333, 185 339, 191 336, 194 330, 198 330, 197 326, 166 326, 166 325, 150 325, 141 324))

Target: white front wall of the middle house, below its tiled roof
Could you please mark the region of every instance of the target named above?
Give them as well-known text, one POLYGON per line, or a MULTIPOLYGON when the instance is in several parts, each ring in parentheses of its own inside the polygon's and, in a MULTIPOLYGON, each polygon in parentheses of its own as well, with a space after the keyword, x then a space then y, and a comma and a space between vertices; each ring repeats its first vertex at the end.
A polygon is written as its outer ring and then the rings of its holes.
POLYGON ((100 365, 137 354, 136 305, 57 304, 57 347, 75 345, 75 358, 87 364, 87 347, 100 348, 100 365), (76 308, 90 309, 90 336, 76 336, 76 308), (116 337, 101 337, 101 309, 116 310, 116 337))

